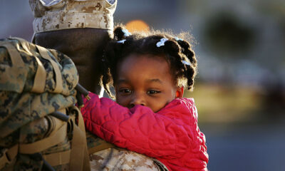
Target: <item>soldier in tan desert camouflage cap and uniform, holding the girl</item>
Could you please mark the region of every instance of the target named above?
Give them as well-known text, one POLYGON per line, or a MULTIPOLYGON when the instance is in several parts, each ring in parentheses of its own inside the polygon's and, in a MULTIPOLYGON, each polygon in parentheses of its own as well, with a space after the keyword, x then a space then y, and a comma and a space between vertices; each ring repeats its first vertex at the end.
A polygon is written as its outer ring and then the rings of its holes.
MULTIPOLYGON (((98 59, 105 44, 113 38, 117 0, 29 2, 35 16, 33 42, 71 57, 78 69, 79 82, 94 93, 102 93, 98 59)), ((91 170, 166 170, 150 157, 120 149, 95 135, 87 137, 91 170)))

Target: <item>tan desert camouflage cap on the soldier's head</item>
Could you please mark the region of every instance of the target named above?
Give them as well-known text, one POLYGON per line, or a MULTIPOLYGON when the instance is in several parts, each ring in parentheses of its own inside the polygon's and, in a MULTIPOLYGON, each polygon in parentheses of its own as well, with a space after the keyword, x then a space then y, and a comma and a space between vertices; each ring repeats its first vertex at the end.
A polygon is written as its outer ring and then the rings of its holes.
POLYGON ((34 33, 68 28, 103 28, 113 31, 117 0, 29 0, 35 17, 34 33))

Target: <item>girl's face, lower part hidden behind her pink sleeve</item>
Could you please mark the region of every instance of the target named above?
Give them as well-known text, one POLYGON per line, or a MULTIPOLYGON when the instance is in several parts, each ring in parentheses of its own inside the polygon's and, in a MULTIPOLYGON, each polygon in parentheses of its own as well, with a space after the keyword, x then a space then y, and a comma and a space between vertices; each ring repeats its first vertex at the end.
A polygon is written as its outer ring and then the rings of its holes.
POLYGON ((183 95, 160 56, 131 54, 118 64, 115 94, 118 104, 127 108, 145 105, 157 112, 183 95))

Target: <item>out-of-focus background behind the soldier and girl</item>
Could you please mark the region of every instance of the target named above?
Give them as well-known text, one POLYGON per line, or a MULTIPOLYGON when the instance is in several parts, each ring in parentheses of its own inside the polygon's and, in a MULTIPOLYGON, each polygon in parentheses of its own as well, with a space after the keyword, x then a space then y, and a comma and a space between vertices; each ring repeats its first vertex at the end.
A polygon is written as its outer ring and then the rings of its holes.
MULTIPOLYGON (((116 23, 190 32, 210 171, 285 170, 285 1, 119 0, 116 23)), ((0 38, 30 41, 28 0, 0 1, 0 38)))

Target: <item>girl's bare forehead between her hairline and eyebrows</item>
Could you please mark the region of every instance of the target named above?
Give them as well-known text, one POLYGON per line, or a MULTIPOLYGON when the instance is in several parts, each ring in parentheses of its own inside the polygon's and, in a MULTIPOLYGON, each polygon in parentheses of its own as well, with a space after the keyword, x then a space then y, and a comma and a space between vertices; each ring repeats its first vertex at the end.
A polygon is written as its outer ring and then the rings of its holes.
POLYGON ((175 86, 169 63, 162 56, 130 55, 118 65, 116 75, 115 84, 128 83, 142 87, 154 84, 175 86))

